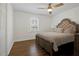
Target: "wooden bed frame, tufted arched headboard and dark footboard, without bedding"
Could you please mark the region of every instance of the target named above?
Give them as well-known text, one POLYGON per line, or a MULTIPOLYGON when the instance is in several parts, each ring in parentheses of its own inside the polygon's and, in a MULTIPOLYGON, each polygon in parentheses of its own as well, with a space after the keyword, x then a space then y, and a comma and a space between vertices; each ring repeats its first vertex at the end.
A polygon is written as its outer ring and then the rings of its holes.
MULTIPOLYGON (((65 18, 57 25, 57 28, 63 28, 64 30, 66 30, 67 28, 69 28, 69 24, 76 26, 75 22, 72 22, 70 21, 70 19, 65 18)), ((36 44, 37 46, 46 50, 50 56, 54 55, 55 51, 53 50, 53 42, 51 43, 44 38, 39 37, 39 35, 36 35, 36 44)))

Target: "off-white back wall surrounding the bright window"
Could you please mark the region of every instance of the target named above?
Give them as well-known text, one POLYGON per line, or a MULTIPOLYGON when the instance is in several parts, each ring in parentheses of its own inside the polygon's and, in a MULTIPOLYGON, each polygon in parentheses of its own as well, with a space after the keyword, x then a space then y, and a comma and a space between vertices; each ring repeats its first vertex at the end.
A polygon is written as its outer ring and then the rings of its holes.
POLYGON ((30 32, 30 19, 32 17, 38 17, 40 31, 47 31, 51 28, 50 17, 15 10, 14 12, 15 41, 34 39, 35 32, 30 32))

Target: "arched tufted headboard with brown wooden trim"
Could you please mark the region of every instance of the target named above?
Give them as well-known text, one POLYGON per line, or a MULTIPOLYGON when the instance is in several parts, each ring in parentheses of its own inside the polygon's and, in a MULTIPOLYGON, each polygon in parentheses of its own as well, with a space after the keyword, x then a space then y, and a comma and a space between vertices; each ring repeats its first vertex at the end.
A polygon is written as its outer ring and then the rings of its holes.
POLYGON ((73 26, 76 30, 76 25, 77 24, 75 22, 71 21, 68 18, 65 18, 57 25, 57 28, 63 28, 63 30, 65 31, 69 27, 73 26))

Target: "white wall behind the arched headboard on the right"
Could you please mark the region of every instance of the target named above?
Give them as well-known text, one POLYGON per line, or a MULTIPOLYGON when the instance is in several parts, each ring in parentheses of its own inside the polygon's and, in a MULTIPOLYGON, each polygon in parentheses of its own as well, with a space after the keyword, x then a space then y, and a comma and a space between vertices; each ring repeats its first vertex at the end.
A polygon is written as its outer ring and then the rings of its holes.
POLYGON ((70 20, 79 24, 79 7, 67 10, 57 15, 53 15, 51 27, 55 27, 64 18, 69 18, 70 20))

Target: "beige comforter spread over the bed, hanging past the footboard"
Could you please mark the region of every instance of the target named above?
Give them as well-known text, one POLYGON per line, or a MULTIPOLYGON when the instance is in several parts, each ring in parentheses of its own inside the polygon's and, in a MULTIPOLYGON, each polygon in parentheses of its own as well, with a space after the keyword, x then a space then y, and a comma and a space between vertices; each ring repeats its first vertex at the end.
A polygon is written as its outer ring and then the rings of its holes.
POLYGON ((53 42, 54 51, 58 51, 58 46, 74 41, 74 34, 71 33, 42 32, 37 35, 45 40, 53 42))

